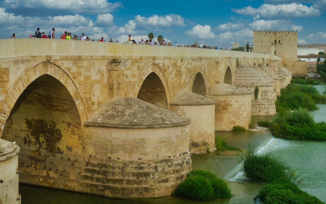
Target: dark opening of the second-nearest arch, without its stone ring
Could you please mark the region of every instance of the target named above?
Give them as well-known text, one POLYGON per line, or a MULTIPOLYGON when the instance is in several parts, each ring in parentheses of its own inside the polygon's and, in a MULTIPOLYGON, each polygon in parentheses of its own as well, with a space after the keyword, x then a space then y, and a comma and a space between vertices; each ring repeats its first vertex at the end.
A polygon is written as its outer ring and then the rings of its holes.
POLYGON ((151 72, 145 78, 139 89, 137 98, 166 109, 169 108, 164 85, 155 72, 151 72))

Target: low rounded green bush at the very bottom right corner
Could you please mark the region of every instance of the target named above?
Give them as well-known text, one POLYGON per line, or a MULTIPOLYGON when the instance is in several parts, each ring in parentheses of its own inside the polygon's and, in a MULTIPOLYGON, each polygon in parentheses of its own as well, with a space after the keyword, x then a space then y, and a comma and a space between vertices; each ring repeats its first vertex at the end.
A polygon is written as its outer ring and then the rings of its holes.
POLYGON ((259 198, 266 204, 274 203, 302 203, 321 204, 316 196, 301 190, 292 182, 271 183, 265 185, 259 192, 259 198))

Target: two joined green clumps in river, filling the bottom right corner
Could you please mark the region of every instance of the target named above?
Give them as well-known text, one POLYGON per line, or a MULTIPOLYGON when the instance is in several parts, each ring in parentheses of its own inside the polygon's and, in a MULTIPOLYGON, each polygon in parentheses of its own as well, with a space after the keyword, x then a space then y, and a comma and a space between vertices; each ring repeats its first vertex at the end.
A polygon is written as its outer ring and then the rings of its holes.
POLYGON ((296 183, 299 176, 271 152, 259 154, 249 148, 242 155, 242 161, 246 177, 267 183, 259 192, 263 203, 323 203, 316 196, 301 190, 296 183))

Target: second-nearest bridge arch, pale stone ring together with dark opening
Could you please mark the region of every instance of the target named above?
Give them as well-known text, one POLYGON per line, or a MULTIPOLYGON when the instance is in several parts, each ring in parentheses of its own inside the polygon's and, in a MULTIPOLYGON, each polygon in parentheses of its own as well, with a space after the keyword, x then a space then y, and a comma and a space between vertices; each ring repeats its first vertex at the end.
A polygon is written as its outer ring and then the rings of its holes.
POLYGON ((141 73, 133 93, 140 100, 169 108, 170 92, 163 71, 152 63, 141 73))

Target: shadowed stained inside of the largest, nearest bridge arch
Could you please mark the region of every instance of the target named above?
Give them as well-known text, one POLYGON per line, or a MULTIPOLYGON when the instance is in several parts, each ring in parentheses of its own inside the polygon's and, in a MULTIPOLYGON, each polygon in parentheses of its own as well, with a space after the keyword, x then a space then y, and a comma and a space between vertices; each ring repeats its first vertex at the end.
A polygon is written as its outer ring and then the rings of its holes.
POLYGON ((18 97, 1 138, 20 146, 18 163, 24 183, 52 187, 54 183, 35 181, 38 176, 65 178, 66 169, 74 172, 66 166, 72 162, 68 157, 82 161, 83 131, 77 106, 67 88, 48 74, 35 79, 18 97))

